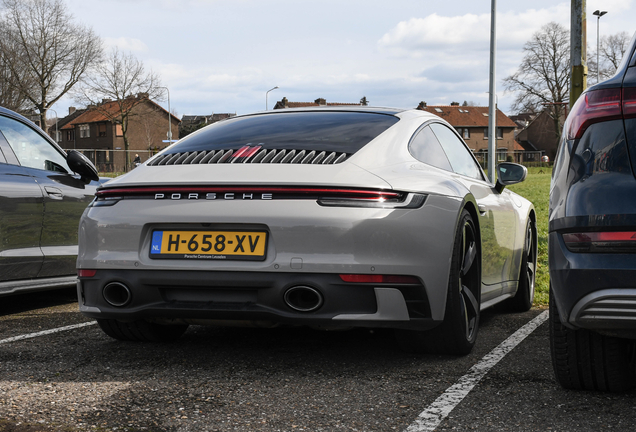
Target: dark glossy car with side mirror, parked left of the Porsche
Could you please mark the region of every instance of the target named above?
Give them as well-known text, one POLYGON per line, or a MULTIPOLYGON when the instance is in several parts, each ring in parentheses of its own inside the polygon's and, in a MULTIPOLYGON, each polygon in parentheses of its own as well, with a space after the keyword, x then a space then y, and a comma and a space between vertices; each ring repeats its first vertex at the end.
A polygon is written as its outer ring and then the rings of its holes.
POLYGON ((76 283, 79 218, 99 184, 84 155, 0 107, 0 296, 76 283))

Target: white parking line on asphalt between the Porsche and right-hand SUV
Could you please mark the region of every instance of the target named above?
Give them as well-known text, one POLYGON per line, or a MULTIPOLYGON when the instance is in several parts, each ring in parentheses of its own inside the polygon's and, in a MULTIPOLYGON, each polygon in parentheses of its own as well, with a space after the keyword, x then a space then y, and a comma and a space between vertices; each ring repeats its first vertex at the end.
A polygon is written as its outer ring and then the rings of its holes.
POLYGON ((450 412, 470 393, 477 383, 493 366, 519 345, 530 333, 548 319, 548 311, 537 315, 533 320, 517 330, 512 336, 486 354, 476 365, 468 370, 457 383, 449 387, 444 394, 429 405, 406 432, 432 432, 450 414, 450 412))

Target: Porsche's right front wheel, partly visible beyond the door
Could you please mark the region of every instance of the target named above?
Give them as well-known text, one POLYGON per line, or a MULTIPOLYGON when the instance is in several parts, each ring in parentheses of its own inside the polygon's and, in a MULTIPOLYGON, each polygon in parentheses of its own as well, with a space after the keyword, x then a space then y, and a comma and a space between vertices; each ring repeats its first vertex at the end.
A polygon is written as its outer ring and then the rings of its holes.
POLYGON ((523 245, 517 293, 507 302, 508 309, 513 312, 529 311, 534 302, 534 282, 537 269, 537 237, 535 233, 534 224, 532 220, 529 220, 526 225, 526 239, 523 245))

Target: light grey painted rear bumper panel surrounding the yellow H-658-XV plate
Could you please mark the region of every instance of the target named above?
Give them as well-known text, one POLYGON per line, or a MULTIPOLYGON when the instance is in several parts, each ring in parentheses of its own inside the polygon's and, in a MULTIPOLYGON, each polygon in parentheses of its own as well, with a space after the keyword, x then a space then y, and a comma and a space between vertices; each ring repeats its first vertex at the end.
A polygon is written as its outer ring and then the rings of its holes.
MULTIPOLYGON (((210 274, 211 279, 224 273, 246 278, 261 274, 265 280, 279 278, 275 279, 281 281, 279 284, 284 280, 282 274, 293 275, 299 283, 312 275, 415 276, 426 291, 430 317, 442 321, 461 204, 434 195, 415 209, 324 207, 312 200, 122 200, 110 207, 88 208, 84 213, 77 267, 117 274, 178 274, 184 278, 194 274, 210 274), (151 257, 154 231, 187 229, 266 231, 265 258, 151 257)), ((235 286, 233 281, 228 283, 235 286)), ((342 281, 338 279, 338 283, 342 281)), ((373 290, 371 297, 375 299, 373 290)))

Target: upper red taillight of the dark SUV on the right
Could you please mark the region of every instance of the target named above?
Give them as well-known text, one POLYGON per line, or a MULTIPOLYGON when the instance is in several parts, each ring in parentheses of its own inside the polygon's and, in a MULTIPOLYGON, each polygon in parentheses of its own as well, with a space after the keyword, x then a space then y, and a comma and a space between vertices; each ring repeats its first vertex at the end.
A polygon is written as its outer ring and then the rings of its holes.
POLYGON ((568 139, 579 139, 590 125, 621 119, 621 114, 621 89, 587 92, 576 101, 568 116, 568 139))

